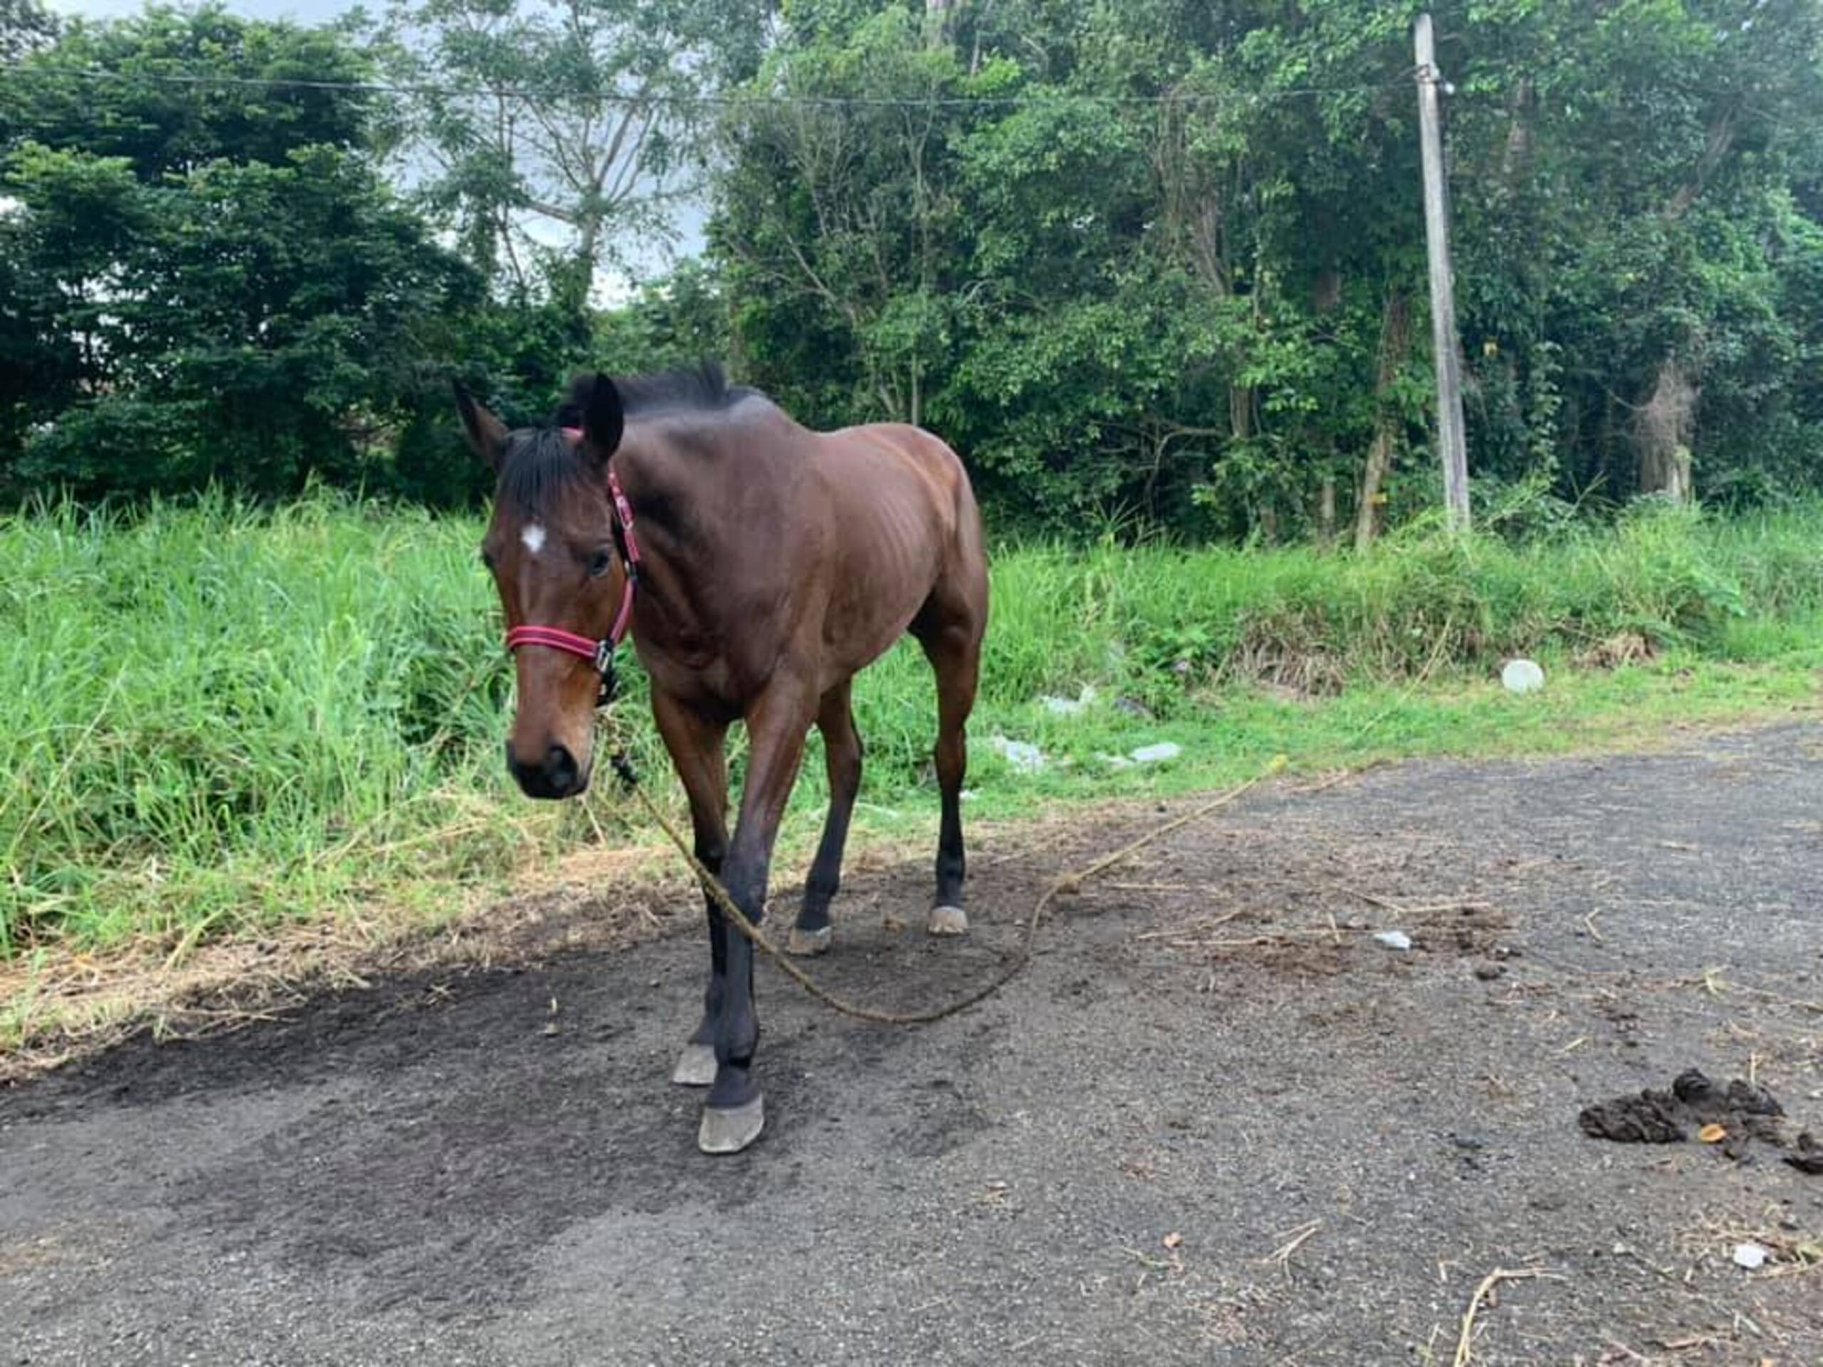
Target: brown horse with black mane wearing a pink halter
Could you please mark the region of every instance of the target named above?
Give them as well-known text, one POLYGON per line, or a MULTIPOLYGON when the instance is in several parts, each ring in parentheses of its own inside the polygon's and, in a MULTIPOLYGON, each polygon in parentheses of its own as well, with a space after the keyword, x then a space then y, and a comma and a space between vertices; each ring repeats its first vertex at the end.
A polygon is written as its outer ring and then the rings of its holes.
MULTIPOLYGON (((469 441, 496 468, 481 556, 516 647, 507 767, 527 795, 589 786, 598 691, 629 631, 653 718, 689 795, 696 855, 751 922, 804 738, 822 731, 829 813, 789 948, 829 944, 829 902, 860 786, 853 676, 912 632, 937 673, 933 935, 963 913, 964 725, 975 700, 988 572, 961 459, 915 427, 811 432, 720 370, 578 377, 547 428, 509 432, 458 388, 469 441), (727 835, 724 740, 747 727, 727 835)), ((731 1154, 764 1125, 753 946, 709 900, 702 1024, 673 1079, 709 1086, 698 1145, 731 1154)))

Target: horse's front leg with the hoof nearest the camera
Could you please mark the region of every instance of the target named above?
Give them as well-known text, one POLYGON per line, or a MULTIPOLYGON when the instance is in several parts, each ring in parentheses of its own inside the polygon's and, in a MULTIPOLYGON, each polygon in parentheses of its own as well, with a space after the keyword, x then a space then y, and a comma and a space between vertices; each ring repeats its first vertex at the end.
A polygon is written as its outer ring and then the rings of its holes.
MULTIPOLYGON (((775 678, 747 711, 747 782, 740 793, 735 840, 722 866, 722 884, 751 926, 766 915, 778 820, 804 758, 804 733, 817 711, 815 691, 775 678)), ((706 1154, 738 1154, 760 1137, 766 1112, 753 1075, 760 1021, 753 1006, 753 944, 727 928, 727 975, 715 1023, 715 1083, 702 1110, 696 1145, 706 1154)))

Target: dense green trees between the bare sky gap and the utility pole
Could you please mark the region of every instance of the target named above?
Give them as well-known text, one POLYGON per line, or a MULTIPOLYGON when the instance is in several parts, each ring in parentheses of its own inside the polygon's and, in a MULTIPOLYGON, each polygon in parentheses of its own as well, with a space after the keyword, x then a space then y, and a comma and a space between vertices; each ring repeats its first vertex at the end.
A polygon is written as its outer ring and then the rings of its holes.
POLYGON ((713 235, 760 377, 932 416, 1028 518, 1190 527, 1200 488, 1216 525, 1333 523, 1416 226, 1358 89, 1404 58, 1396 18, 1265 11, 952 5, 933 42, 919 7, 795 5, 713 235), (1353 86, 1278 91, 1313 78, 1353 86), (1364 206, 1384 226, 1345 230, 1364 206))

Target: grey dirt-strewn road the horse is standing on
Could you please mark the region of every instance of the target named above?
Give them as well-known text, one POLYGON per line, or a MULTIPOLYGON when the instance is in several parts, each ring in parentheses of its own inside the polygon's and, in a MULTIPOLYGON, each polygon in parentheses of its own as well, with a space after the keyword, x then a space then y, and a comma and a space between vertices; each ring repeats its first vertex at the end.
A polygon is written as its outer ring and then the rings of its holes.
MULTIPOLYGON (((1819 797, 1818 727, 1262 789, 941 1026, 762 968, 735 1159, 695 939, 128 1044, 0 1094, 0 1363, 1447 1363, 1495 1269, 1477 1363, 1818 1363, 1823 1177, 1577 1112, 1752 1070, 1823 1136, 1819 797)), ((857 879, 819 970, 959 992, 1158 818, 977 860, 964 944, 857 879)))

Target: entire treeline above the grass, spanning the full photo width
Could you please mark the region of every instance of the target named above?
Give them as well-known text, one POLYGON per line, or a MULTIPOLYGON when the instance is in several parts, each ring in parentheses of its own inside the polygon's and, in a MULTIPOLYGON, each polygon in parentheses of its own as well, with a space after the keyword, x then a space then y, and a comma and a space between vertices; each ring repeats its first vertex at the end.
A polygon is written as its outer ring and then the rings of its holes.
POLYGON ((1420 7, 1480 499, 1818 488, 1818 0, 11 0, 0 488, 461 505, 452 374, 709 352, 1003 529, 1367 541, 1435 503, 1420 7))

